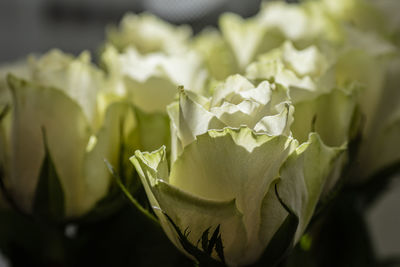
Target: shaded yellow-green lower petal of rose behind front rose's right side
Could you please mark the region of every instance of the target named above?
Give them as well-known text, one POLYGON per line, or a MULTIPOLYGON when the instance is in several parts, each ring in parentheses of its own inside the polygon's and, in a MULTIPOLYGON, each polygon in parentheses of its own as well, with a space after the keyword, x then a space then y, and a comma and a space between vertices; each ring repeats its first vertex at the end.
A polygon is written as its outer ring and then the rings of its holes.
POLYGON ((355 96, 338 89, 295 104, 293 137, 302 143, 316 131, 325 144, 341 146, 348 141, 355 107, 355 96))

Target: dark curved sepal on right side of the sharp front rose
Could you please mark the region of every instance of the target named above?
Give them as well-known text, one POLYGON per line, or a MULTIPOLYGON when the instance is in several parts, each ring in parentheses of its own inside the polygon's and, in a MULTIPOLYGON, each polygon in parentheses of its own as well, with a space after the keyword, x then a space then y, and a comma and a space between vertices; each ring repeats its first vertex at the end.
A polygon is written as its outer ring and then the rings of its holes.
POLYGON ((282 207, 288 212, 288 215, 268 243, 259 261, 251 265, 252 267, 277 266, 288 256, 290 250, 294 247, 294 238, 299 225, 299 217, 283 202, 279 196, 277 184, 275 184, 275 195, 282 207))

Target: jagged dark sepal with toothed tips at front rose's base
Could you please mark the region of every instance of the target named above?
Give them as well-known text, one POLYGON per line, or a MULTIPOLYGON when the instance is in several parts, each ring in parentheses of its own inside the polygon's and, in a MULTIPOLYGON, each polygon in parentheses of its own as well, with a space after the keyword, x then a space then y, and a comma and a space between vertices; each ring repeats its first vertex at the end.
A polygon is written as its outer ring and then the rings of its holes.
MULTIPOLYGON (((223 254, 223 245, 222 245, 222 239, 221 235, 219 233, 220 226, 218 225, 211 238, 208 239, 208 234, 210 231, 210 228, 207 228, 203 234, 201 235, 201 243, 202 243, 202 249, 199 249, 197 246, 193 245, 189 239, 188 236, 190 234, 190 231, 188 228, 185 229, 185 231, 181 231, 179 226, 176 225, 176 223, 172 220, 170 216, 168 216, 167 213, 163 212, 167 220, 171 223, 172 227, 174 228, 175 232, 178 234, 178 239, 179 242, 181 243, 182 247, 185 249, 187 253, 192 255, 197 263, 198 266, 200 267, 225 267, 225 258, 223 254), (215 248, 215 251, 217 252, 218 257, 221 259, 220 261, 217 261, 211 257, 213 248, 215 248)), ((200 242, 200 240, 199 240, 200 242)))

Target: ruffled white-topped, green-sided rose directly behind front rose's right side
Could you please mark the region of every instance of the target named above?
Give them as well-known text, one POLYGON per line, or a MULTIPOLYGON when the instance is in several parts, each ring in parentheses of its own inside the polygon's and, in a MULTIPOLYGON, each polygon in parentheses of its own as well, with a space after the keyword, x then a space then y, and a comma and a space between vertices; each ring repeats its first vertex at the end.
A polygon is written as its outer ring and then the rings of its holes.
POLYGON ((317 131, 327 145, 340 146, 349 138, 360 86, 339 63, 335 67, 331 64, 315 46, 296 50, 286 42, 260 56, 247 68, 247 76, 268 79, 289 89, 295 110, 291 130, 297 140, 305 142, 310 132, 317 131), (349 79, 344 82, 344 77, 349 79))

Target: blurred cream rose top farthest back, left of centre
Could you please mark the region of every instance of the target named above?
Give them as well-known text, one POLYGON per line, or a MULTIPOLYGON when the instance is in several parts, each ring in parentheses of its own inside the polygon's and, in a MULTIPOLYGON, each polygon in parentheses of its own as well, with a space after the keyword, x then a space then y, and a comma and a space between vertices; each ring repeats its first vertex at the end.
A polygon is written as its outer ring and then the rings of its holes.
POLYGON ((174 26, 148 13, 128 13, 122 18, 119 28, 107 29, 107 40, 119 51, 134 47, 143 54, 180 53, 191 35, 189 26, 174 26))

